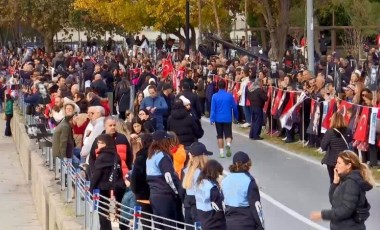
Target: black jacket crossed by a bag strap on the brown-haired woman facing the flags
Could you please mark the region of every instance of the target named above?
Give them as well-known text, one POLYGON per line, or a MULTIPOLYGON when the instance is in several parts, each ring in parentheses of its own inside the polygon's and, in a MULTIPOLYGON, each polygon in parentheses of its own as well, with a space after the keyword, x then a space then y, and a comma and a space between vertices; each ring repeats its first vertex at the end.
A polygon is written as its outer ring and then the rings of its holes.
MULTIPOLYGON (((347 143, 352 141, 351 131, 349 129, 338 130, 344 135, 347 143)), ((333 129, 328 129, 322 138, 321 148, 326 151, 325 156, 322 159, 322 164, 329 166, 335 166, 338 154, 344 150, 348 150, 347 144, 344 142, 342 136, 333 129)))

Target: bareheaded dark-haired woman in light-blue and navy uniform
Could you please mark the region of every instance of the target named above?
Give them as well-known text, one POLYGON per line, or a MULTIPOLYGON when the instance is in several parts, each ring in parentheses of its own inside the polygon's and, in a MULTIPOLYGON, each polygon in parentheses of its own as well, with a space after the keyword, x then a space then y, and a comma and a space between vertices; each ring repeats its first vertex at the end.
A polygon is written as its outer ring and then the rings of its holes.
POLYGON ((194 185, 197 216, 202 229, 226 229, 223 194, 219 184, 222 175, 223 166, 216 160, 209 160, 194 185))

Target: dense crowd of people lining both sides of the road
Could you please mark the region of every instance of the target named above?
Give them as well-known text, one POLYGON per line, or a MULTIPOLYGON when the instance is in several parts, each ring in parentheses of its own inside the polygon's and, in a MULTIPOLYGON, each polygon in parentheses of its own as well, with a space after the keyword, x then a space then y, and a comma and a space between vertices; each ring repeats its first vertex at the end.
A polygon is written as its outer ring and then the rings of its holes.
MULTIPOLYGON (((372 188, 366 164, 376 167, 379 155, 376 125, 369 119, 380 117, 376 50, 362 66, 334 54, 317 60, 314 70, 307 70, 302 53, 294 58, 292 50, 281 63, 201 54, 173 60, 163 47, 160 60, 146 52, 21 51, 1 50, 0 65, 10 76, 1 79, 5 135, 12 135, 13 101, 23 97, 27 114, 54 130, 54 156, 72 159, 86 171, 90 191, 100 189, 103 209, 108 201, 102 197, 108 197, 128 207, 138 204, 145 213, 200 222, 202 229, 264 229, 251 159, 244 152, 232 154, 234 123, 249 128, 251 140, 262 140, 265 127, 285 143, 298 138, 325 152, 331 194, 342 193, 338 188, 348 178, 360 177, 368 185, 355 196, 372 188), (199 142, 202 117, 215 125, 219 156, 233 155, 228 175, 199 142)), ((331 223, 343 215, 352 218, 361 206, 357 198, 344 214, 335 208, 345 203, 333 202, 331 210, 312 218, 331 223)), ((128 229, 127 213, 121 214, 126 218, 120 219, 120 229, 128 229)), ((99 215, 99 220, 102 230, 111 229, 107 217, 99 215)), ((156 221, 160 229, 173 225, 156 221)), ((144 229, 151 226, 148 220, 142 223, 144 229)))

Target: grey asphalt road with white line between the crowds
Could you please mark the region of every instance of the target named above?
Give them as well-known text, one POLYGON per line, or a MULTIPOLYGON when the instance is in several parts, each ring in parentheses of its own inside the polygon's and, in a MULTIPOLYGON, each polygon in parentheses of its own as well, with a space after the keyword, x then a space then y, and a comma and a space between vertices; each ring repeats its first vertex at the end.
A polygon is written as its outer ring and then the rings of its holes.
MULTIPOLYGON (((205 121, 202 121, 202 125, 205 135, 200 141, 214 152, 213 158, 228 170, 232 159, 218 157, 215 127, 205 121)), ((314 223, 308 219, 311 211, 331 207, 328 200, 327 170, 314 159, 302 159, 264 141, 251 141, 240 128, 236 127, 234 130, 232 152, 245 151, 253 160, 252 174, 263 193, 266 229, 329 229, 328 222, 314 223)), ((369 192, 367 198, 372 205, 371 217, 366 222, 367 229, 378 230, 380 188, 369 192)))

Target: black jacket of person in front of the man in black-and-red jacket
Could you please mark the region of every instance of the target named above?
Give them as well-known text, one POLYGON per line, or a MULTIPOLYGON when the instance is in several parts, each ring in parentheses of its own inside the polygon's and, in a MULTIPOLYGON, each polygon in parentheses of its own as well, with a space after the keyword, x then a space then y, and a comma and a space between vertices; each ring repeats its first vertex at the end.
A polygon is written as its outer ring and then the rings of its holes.
POLYGON ((120 158, 116 148, 104 147, 100 149, 99 157, 96 158, 90 180, 90 191, 95 188, 100 190, 112 190, 124 188, 123 173, 120 166, 120 158), (115 165, 116 164, 116 169, 115 165), (111 179, 112 178, 112 179, 111 179))

